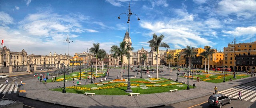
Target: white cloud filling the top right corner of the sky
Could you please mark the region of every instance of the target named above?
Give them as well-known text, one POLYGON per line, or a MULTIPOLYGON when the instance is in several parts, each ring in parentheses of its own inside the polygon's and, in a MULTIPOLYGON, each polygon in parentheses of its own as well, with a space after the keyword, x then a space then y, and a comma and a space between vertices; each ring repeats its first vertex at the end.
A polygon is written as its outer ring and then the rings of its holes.
POLYGON ((236 15, 238 18, 255 16, 255 0, 222 0, 218 3, 216 12, 222 16, 236 15))

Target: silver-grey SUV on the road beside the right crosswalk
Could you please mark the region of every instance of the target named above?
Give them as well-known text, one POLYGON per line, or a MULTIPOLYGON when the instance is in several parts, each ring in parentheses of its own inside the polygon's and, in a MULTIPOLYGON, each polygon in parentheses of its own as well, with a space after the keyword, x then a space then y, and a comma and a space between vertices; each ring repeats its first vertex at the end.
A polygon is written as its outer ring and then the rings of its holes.
POLYGON ((217 106, 217 107, 221 108, 222 105, 224 105, 224 104, 230 104, 231 98, 228 96, 225 96, 223 94, 213 94, 212 96, 209 97, 208 103, 211 106, 217 106))

